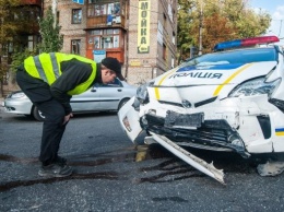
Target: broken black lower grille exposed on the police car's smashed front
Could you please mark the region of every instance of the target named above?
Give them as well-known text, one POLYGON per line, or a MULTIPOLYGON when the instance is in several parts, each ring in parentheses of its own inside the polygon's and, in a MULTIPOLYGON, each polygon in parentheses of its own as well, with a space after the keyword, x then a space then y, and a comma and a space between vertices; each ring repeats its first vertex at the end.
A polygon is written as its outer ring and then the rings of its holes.
POLYGON ((238 133, 232 130, 226 120, 204 120, 198 129, 165 127, 165 119, 147 114, 141 118, 141 126, 147 131, 162 134, 177 144, 203 146, 203 149, 226 149, 247 157, 245 148, 229 143, 230 137, 241 140, 238 133), (208 146, 208 148, 206 148, 208 146))

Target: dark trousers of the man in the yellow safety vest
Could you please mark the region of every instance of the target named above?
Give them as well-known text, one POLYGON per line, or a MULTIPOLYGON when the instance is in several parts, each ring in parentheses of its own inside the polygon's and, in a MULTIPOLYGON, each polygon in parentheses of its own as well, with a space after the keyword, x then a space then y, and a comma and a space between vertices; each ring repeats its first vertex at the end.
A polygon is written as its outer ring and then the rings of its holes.
POLYGON ((39 161, 49 165, 57 160, 60 141, 66 130, 63 106, 52 98, 49 85, 31 76, 23 68, 16 72, 21 90, 45 116, 39 161))

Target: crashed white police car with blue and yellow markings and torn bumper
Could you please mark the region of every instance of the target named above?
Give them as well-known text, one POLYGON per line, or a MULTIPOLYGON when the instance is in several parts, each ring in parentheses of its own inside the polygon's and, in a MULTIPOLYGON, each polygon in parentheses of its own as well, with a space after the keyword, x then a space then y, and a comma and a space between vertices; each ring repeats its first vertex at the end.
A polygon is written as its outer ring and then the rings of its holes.
POLYGON ((118 113, 122 129, 132 142, 146 131, 145 143, 162 144, 222 184, 222 169, 184 146, 233 151, 245 158, 284 152, 283 49, 273 45, 279 40, 220 43, 214 52, 141 85, 118 113))

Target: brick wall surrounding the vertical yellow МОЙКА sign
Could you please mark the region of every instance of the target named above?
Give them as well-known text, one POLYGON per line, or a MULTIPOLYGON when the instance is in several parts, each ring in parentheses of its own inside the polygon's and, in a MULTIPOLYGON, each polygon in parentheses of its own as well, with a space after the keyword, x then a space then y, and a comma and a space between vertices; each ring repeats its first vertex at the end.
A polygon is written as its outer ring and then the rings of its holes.
MULTIPOLYGON (((173 44, 173 32, 177 34, 176 17, 170 22, 168 17, 168 2, 170 0, 149 1, 151 3, 150 12, 150 52, 138 52, 138 22, 139 22, 139 0, 130 1, 129 13, 129 54, 127 79, 132 84, 144 83, 171 68, 171 56, 176 57, 176 46, 173 44), (167 17, 159 36, 158 42, 158 25, 163 25, 164 15, 167 17), (159 24, 158 24, 159 23, 159 24), (161 39, 161 37, 159 37, 161 39), (167 47, 166 58, 163 58, 163 44, 167 47)), ((177 10, 177 4, 174 3, 174 10, 177 10)), ((159 26, 161 27, 161 26, 159 26)))

